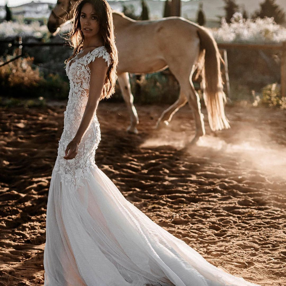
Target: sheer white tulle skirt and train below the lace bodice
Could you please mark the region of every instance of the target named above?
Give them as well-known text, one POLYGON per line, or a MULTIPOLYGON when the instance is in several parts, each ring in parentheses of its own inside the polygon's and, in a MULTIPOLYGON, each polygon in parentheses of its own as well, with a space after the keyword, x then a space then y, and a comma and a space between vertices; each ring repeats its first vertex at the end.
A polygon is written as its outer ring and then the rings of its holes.
POLYGON ((253 285, 208 263, 128 202, 98 168, 78 189, 55 175, 45 285, 253 285))

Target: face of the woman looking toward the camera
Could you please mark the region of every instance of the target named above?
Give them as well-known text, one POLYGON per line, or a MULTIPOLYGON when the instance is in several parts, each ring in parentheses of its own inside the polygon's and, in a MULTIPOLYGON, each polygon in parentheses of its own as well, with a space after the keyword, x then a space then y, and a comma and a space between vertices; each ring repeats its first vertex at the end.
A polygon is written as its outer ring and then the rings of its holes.
POLYGON ((80 27, 84 37, 95 37, 99 35, 98 17, 90 3, 84 4, 80 13, 80 27))

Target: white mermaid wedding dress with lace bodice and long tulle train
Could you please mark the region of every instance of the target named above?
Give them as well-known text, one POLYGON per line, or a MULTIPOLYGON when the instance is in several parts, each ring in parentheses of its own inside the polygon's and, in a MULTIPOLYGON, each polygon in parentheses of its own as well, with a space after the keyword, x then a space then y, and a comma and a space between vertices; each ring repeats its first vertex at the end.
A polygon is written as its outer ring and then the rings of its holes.
POLYGON ((96 114, 76 157, 63 158, 84 113, 88 64, 96 57, 110 64, 102 46, 66 66, 70 92, 47 202, 44 285, 257 286, 208 263, 124 198, 95 164, 96 114))

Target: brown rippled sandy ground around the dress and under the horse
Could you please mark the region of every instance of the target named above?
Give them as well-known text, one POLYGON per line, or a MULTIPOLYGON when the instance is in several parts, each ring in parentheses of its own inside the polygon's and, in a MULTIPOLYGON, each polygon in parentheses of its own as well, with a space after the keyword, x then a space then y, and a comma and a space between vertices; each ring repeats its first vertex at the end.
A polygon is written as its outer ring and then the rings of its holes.
MULTIPOLYGON (((153 130, 167 106, 100 103, 98 166, 148 217, 207 261, 261 285, 286 285, 286 112, 227 107, 231 129, 196 146, 188 107, 153 130)), ((65 102, 0 109, 0 285, 43 285, 45 216, 65 102)), ((205 110, 204 110, 205 113, 205 110)))

